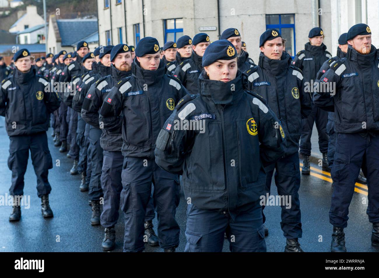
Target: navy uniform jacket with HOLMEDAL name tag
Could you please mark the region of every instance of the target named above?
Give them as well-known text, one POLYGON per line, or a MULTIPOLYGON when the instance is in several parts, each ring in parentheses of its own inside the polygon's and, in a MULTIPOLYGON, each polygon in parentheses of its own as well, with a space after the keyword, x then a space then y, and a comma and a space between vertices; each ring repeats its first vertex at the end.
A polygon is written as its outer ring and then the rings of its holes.
POLYGON ((307 118, 312 110, 312 99, 309 91, 304 91, 301 70, 291 65, 290 57, 283 52, 280 60, 273 60, 260 53, 259 65, 245 72, 247 89, 266 99, 282 123, 285 156, 299 151, 301 119, 307 118))

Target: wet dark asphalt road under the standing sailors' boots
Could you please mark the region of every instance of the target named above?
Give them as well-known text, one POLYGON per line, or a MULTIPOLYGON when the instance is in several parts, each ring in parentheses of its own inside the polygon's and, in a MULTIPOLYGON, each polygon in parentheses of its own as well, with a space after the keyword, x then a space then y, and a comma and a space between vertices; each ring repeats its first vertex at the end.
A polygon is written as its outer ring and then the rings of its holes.
MULTIPOLYGON (((22 218, 19 222, 9 222, 12 211, 9 206, 0 206, 0 251, 1 252, 102 252, 101 242, 103 228, 91 226, 91 208, 88 205, 88 193, 80 192, 80 175, 70 175, 72 159, 62 154, 54 147, 51 129, 47 133, 49 148, 53 158, 53 169, 49 171, 49 182, 52 193, 49 196, 54 217, 44 219, 41 215, 41 200, 37 196, 36 177, 29 156, 28 168, 25 174, 24 195, 30 195, 30 208, 22 208, 22 218), (60 166, 55 166, 56 160, 60 166), (59 240, 58 240, 59 239, 59 240)), ((4 127, 4 117, 0 117, 0 196, 9 193, 11 171, 7 166, 9 155, 9 138, 4 127)), ((321 167, 312 165, 312 175, 301 177, 299 190, 303 236, 299 239, 305 252, 329 252, 332 225, 329 224, 328 211, 332 195, 330 176, 321 171, 321 167), (324 177, 324 178, 320 178, 324 177), (325 180, 326 179, 326 180, 325 180), (329 179, 329 180, 328 180, 329 179)), ((364 187, 364 186, 363 186, 364 187)), ((350 208, 348 227, 345 228, 346 248, 349 252, 376 252, 371 247, 372 225, 366 215, 367 189, 356 187, 350 208)), ((272 195, 277 195, 276 186, 271 186, 272 195)), ((181 191, 181 200, 177 208, 176 219, 180 225, 180 245, 177 252, 185 247, 186 200, 181 191)), ((268 252, 282 252, 285 238, 280 230, 280 207, 265 208, 266 227, 269 236, 266 237, 268 252)), ((157 218, 153 220, 157 231, 157 218)), ((124 237, 124 220, 120 211, 119 222, 116 225, 116 249, 122 252, 124 237)), ((150 247, 146 244, 146 252, 162 252, 160 247, 150 247)), ((229 243, 224 242, 224 252, 229 251, 229 243)))

